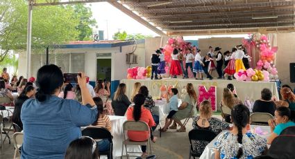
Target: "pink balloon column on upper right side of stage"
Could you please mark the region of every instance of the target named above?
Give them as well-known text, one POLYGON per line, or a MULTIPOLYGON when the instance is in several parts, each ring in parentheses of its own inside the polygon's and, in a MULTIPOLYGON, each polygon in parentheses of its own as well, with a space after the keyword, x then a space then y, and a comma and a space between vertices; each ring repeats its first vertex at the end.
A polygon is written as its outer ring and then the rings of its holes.
POLYGON ((278 47, 271 47, 266 35, 261 35, 259 32, 254 36, 255 45, 260 50, 260 59, 262 62, 269 62, 273 64, 276 59, 275 53, 278 47))

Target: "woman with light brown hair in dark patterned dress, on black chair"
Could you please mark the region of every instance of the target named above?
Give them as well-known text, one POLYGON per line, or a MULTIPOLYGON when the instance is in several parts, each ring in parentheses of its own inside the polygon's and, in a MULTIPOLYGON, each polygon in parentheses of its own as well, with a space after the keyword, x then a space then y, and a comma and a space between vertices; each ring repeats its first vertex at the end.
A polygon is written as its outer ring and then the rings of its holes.
MULTIPOLYGON (((208 129, 216 134, 221 133, 225 129, 229 129, 229 124, 226 122, 221 122, 221 120, 212 117, 212 107, 209 101, 203 101, 199 107, 200 115, 194 118, 192 122, 192 127, 194 129, 208 129)), ((194 150, 196 153, 203 153, 206 145, 209 142, 205 141, 195 141, 194 150)))

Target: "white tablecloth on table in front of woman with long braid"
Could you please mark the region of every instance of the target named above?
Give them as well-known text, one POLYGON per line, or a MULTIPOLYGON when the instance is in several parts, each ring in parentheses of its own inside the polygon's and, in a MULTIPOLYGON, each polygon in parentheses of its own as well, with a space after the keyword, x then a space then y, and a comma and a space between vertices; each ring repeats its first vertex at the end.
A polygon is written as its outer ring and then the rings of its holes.
MULTIPOLYGON (((269 129, 269 126, 260 126, 260 125, 251 125, 251 130, 253 131, 254 128, 260 127, 262 131, 267 131, 268 133, 266 135, 260 135, 262 138, 268 138, 271 134, 271 130, 269 129)), ((219 133, 220 135, 221 133, 219 133)), ((215 158, 215 149, 214 149, 214 142, 217 141, 217 138, 219 135, 214 138, 204 149, 202 155, 199 159, 214 159, 215 158)), ((269 146, 269 145, 268 145, 269 146)))

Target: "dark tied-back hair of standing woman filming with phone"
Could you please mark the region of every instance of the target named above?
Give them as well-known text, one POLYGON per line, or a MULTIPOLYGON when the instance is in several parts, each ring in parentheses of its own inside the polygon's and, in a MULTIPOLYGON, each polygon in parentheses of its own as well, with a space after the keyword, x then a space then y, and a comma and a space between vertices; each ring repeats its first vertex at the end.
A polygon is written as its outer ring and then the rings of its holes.
POLYGON ((44 102, 49 95, 61 88, 63 84, 62 71, 54 64, 42 66, 37 71, 36 84, 38 87, 36 99, 39 102, 44 102))

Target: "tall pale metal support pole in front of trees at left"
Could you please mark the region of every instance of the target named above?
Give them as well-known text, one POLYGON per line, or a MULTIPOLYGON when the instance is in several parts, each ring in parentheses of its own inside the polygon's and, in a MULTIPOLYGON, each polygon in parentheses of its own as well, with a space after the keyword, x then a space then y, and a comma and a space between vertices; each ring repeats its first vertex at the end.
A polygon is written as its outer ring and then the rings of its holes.
POLYGON ((28 30, 26 39, 26 77, 31 77, 31 39, 32 39, 33 0, 28 0, 28 30))

